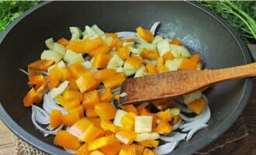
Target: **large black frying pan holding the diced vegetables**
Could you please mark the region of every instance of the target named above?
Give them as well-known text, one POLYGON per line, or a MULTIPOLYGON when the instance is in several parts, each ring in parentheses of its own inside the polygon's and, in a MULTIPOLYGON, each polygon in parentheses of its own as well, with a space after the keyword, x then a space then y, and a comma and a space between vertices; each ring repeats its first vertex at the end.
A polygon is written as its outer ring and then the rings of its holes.
MULTIPOLYGON (((0 37, 0 117, 22 139, 51 154, 68 154, 43 137, 31 122, 31 108, 22 104, 29 90, 26 75, 18 68, 40 58, 44 40, 70 38, 69 26, 97 24, 106 32, 147 29, 160 21, 158 33, 182 39, 192 53, 200 53, 206 68, 251 63, 246 45, 220 17, 195 2, 42 2, 2 33, 0 37)), ((171 154, 190 154, 215 140, 230 127, 251 94, 252 78, 214 85, 206 95, 212 117, 209 128, 183 141, 171 154)))

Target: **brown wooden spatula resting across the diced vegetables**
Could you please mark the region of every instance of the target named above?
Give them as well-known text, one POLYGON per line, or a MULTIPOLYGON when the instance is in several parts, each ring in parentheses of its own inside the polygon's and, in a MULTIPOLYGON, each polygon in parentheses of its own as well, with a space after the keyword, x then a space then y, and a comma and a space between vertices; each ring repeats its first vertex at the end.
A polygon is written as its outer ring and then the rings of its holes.
POLYGON ((217 70, 168 71, 123 82, 119 105, 150 102, 161 98, 185 95, 220 81, 256 76, 256 63, 217 70))

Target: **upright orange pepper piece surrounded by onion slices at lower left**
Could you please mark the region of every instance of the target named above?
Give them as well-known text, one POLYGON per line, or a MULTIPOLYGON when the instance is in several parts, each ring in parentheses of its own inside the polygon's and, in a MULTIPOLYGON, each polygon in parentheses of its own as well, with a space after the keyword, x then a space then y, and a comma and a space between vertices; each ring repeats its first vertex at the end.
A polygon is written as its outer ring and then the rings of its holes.
POLYGON ((52 129, 57 128, 58 126, 61 126, 62 123, 62 114, 59 110, 51 110, 50 111, 50 127, 52 129))

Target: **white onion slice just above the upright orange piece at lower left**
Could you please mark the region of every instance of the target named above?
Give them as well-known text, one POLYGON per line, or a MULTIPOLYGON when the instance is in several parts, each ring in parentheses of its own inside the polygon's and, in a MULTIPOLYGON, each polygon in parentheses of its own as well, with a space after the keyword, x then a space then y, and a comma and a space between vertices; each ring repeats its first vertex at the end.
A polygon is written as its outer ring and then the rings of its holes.
POLYGON ((56 102, 54 102, 54 99, 51 98, 49 94, 45 94, 43 96, 43 109, 50 114, 51 110, 60 110, 62 115, 67 115, 67 111, 65 108, 61 107, 60 105, 57 105, 56 102))

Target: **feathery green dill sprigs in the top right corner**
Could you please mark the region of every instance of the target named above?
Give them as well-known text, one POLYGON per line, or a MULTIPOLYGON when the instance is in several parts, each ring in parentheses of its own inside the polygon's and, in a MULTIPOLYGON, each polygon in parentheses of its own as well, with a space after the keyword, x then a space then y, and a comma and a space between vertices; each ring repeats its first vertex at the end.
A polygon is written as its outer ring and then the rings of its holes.
POLYGON ((245 42, 256 40, 256 2, 255 1, 199 1, 216 12, 240 33, 245 42))

